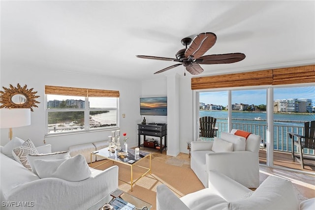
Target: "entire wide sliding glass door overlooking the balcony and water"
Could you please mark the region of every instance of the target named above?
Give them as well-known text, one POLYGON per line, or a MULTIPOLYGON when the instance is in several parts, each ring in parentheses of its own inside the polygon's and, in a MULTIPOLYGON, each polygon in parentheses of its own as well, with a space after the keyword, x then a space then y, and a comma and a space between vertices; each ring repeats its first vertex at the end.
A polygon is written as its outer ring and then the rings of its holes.
MULTIPOLYGON (((292 148, 288 132, 304 135, 304 123, 315 120, 315 85, 295 86, 197 91, 197 120, 215 117, 218 137, 232 128, 257 134, 261 136, 261 164, 301 170, 300 163, 292 160, 291 151, 296 153, 297 148, 292 148)), ((304 153, 315 158, 314 150, 305 149, 304 153)), ((306 171, 314 172, 315 160, 306 163, 310 163, 306 171)))

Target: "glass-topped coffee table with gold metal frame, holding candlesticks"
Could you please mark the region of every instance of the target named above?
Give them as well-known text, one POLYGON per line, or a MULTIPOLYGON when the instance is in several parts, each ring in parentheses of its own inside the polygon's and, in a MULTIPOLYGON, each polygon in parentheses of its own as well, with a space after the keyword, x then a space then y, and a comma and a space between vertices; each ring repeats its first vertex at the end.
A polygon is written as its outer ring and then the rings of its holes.
MULTIPOLYGON (((92 164, 92 155, 95 155, 95 156, 100 156, 102 158, 105 158, 108 161, 105 161, 95 166, 94 168, 97 168, 98 166, 103 165, 109 161, 114 161, 117 163, 122 163, 122 164, 130 166, 130 186, 131 186, 131 192, 132 192, 133 184, 135 184, 138 180, 144 177, 147 173, 151 174, 151 153, 140 150, 139 154, 135 154, 134 149, 128 149, 128 153, 126 154, 126 156, 121 156, 119 155, 120 152, 122 151, 115 150, 115 152, 111 152, 108 147, 101 150, 93 151, 91 152, 91 164, 92 164), (141 162, 145 158, 149 158, 149 168, 138 165, 138 163, 141 162), (132 170, 133 167, 143 168, 146 171, 138 179, 133 180, 133 170, 132 170)), ((121 181, 124 181, 124 180, 121 180, 121 181)), ((129 182, 126 182, 126 183, 129 183, 129 182)))

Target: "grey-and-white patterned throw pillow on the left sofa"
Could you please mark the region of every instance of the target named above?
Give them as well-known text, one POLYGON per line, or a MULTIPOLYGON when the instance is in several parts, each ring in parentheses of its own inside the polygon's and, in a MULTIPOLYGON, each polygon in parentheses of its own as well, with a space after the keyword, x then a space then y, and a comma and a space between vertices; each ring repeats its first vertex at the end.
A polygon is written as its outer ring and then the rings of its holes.
POLYGON ((31 165, 26 157, 28 154, 38 154, 38 151, 30 139, 25 141, 21 146, 12 150, 14 159, 21 163, 25 168, 32 171, 31 165))

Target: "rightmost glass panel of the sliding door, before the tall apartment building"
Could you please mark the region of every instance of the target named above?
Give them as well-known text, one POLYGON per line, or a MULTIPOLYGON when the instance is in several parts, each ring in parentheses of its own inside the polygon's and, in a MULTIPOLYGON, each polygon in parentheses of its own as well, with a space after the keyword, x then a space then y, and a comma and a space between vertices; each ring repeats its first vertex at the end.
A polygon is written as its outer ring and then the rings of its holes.
MULTIPOLYGON (((304 135, 304 123, 315 120, 315 86, 274 88, 274 158, 275 166, 302 169, 298 161, 292 159, 296 154, 288 132, 304 135)), ((295 139, 296 140, 296 139, 295 139)), ((304 156, 314 157, 314 150, 304 149, 304 156)), ((299 155, 296 155, 298 159, 299 155)), ((306 170, 315 170, 315 161, 304 161, 306 170)))

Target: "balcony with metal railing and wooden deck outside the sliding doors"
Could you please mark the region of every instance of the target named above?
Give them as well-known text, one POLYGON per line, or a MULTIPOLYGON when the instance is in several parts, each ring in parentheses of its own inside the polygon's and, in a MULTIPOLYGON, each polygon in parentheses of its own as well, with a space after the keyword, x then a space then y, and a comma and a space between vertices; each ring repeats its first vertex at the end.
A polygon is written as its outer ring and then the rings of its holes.
MULTIPOLYGON (((232 119, 233 120, 233 119, 232 119)), ((239 119, 237 119, 239 120, 239 119)), ((285 124, 284 121, 279 121, 285 124)), ((228 132, 227 122, 216 123, 218 128, 218 137, 221 132, 228 132)), ((245 130, 253 134, 261 136, 261 144, 259 150, 259 162, 266 164, 266 124, 255 124, 255 123, 234 123, 232 121, 232 128, 245 130)), ((315 154, 314 150, 304 149, 304 155, 310 157, 313 160, 304 159, 305 169, 301 168, 301 164, 297 161, 293 162, 291 155, 291 138, 287 134, 288 132, 294 132, 303 135, 304 127, 302 126, 290 126, 290 125, 274 125, 274 165, 303 170, 307 172, 315 172, 315 154)), ((205 140, 205 139, 204 139, 205 140)), ((294 151, 297 152, 296 147, 294 151)))

